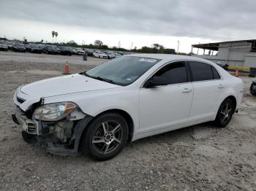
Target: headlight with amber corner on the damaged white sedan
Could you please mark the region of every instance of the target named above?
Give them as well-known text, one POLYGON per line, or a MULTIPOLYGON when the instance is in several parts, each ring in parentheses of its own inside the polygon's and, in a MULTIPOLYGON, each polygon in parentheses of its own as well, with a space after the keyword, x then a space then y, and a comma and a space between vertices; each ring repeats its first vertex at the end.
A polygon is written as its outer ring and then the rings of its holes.
POLYGON ((70 102, 46 104, 34 110, 33 118, 42 121, 57 121, 67 117, 75 108, 76 105, 70 102))

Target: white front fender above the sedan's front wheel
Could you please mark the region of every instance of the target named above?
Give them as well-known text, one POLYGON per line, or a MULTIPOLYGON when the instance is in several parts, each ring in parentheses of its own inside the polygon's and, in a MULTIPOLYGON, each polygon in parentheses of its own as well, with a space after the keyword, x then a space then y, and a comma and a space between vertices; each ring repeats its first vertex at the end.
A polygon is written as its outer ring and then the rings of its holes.
POLYGON ((45 104, 62 101, 72 101, 85 114, 92 117, 110 109, 120 109, 127 112, 135 125, 139 125, 139 90, 124 87, 119 89, 95 90, 85 93, 72 93, 45 98, 45 104))

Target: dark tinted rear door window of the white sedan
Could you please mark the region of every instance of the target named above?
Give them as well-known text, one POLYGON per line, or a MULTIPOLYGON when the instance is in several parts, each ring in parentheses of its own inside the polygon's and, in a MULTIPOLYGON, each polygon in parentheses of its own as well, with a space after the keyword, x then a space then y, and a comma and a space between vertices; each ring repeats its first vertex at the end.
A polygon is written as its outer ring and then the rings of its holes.
POLYGON ((189 61, 189 66, 192 71, 193 82, 214 79, 214 73, 213 69, 211 69, 211 65, 189 61))

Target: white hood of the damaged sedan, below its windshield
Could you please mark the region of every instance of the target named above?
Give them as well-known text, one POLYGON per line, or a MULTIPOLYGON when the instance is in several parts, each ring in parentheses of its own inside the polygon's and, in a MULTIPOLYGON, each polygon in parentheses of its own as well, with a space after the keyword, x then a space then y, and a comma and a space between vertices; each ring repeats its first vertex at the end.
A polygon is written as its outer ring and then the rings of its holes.
POLYGON ((64 77, 54 77, 33 82, 20 87, 20 91, 29 97, 42 98, 69 93, 80 93, 94 90, 105 90, 120 87, 98 79, 92 79, 80 74, 64 77))

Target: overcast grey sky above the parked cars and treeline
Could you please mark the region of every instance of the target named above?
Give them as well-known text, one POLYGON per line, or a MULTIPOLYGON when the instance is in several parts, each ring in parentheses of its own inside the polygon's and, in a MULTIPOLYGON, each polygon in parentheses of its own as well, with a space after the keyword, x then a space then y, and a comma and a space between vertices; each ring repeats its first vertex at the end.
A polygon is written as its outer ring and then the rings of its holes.
MULTIPOLYGON (((0 0, 0 37, 151 47, 256 39, 255 0, 0 0)), ((194 50, 195 51, 195 50, 194 50)))

